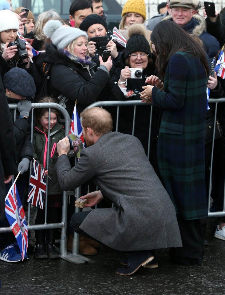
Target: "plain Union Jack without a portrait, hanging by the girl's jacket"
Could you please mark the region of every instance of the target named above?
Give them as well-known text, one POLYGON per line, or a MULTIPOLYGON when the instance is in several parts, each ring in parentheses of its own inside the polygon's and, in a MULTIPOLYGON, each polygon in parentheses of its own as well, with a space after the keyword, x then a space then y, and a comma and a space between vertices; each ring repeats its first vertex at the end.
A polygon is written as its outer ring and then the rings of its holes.
POLYGON ((28 189, 27 201, 43 209, 43 202, 45 199, 46 180, 45 169, 41 168, 41 165, 34 159, 34 165, 30 175, 30 185, 28 189))

